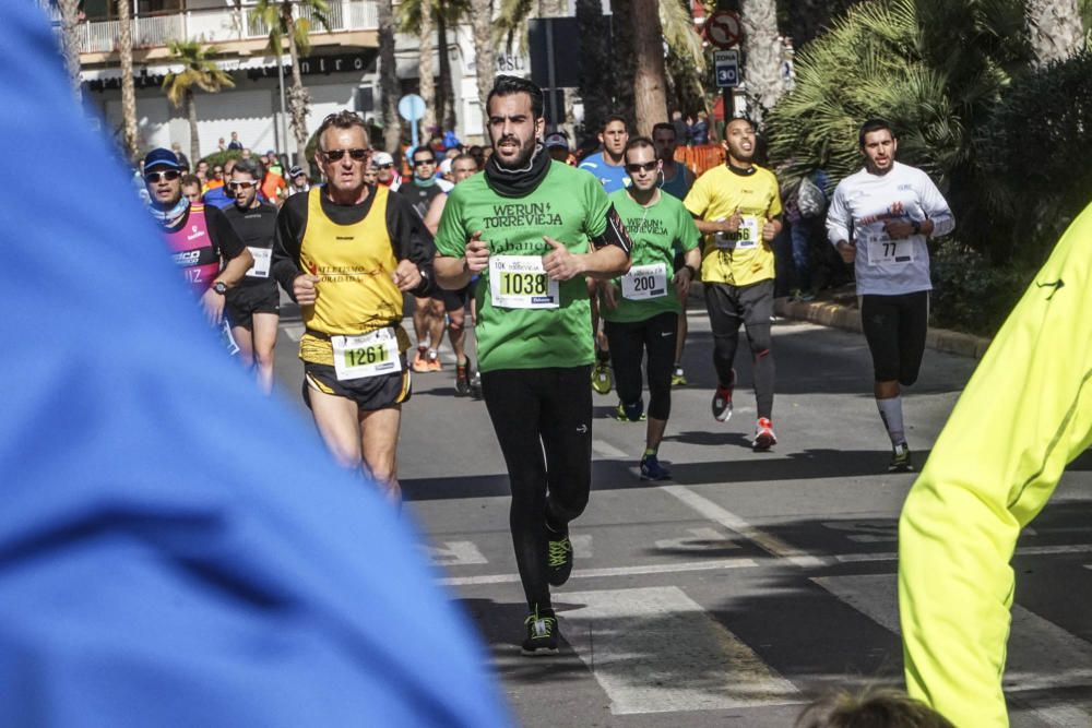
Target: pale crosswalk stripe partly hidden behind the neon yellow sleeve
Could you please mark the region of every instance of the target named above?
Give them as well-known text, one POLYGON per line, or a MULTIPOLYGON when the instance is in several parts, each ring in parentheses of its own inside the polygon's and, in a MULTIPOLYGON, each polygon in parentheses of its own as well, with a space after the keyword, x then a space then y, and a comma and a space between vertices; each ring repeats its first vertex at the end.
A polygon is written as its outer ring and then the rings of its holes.
MULTIPOLYGON (((877 624, 894 634, 901 633, 897 575, 817 576, 811 581, 877 624)), ((1072 705, 1037 707, 1036 703, 1053 702, 1051 691, 1088 688, 1092 669, 1081 666, 1092 665, 1092 645, 1020 605, 1013 605, 1007 655, 1004 684, 1008 692, 1018 695, 1025 691, 1046 693, 1034 697, 1019 695, 1021 704, 1052 726, 1083 728, 1090 725, 1092 716, 1084 709, 1072 705)))

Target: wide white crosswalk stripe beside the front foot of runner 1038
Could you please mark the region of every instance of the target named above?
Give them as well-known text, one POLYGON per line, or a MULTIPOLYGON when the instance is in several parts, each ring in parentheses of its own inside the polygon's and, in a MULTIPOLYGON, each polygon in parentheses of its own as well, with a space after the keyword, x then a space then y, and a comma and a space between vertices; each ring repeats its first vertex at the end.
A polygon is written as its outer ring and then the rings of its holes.
POLYGON ((556 594, 554 601, 566 641, 613 715, 800 702, 792 682, 676 586, 556 594))

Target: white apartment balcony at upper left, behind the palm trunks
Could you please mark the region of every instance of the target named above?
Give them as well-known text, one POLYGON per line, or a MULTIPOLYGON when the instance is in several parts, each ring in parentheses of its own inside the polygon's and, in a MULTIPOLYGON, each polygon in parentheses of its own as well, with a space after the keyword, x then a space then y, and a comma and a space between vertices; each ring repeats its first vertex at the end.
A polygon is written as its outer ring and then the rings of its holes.
MULTIPOLYGON (((244 4, 239 10, 188 9, 176 13, 138 15, 132 21, 133 48, 162 48, 169 40, 200 40, 224 46, 268 38, 269 28, 251 19, 250 10, 251 7, 244 4)), ((310 19, 310 13, 305 9, 301 16, 310 19)), ((376 31, 379 27, 375 0, 332 0, 327 20, 329 27, 312 21, 312 36, 376 31)), ((120 22, 87 21, 80 24, 79 32, 81 53, 110 53, 118 47, 120 22)))

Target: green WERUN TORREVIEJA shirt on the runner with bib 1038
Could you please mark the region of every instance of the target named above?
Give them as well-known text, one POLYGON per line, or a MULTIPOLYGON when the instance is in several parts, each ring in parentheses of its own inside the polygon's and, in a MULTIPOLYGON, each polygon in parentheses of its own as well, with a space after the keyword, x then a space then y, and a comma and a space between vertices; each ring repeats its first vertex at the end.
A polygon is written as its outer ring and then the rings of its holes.
POLYGON ((543 240, 545 235, 563 242, 570 252, 586 253, 589 239, 606 229, 609 210, 610 201, 594 177, 558 162, 523 198, 497 194, 484 174, 451 190, 436 234, 437 250, 462 258, 466 241, 478 230, 489 243, 490 267, 482 271, 475 291, 480 371, 592 363, 591 305, 583 276, 558 284, 557 308, 502 308, 492 302, 490 271, 498 256, 546 255, 553 249, 543 240))

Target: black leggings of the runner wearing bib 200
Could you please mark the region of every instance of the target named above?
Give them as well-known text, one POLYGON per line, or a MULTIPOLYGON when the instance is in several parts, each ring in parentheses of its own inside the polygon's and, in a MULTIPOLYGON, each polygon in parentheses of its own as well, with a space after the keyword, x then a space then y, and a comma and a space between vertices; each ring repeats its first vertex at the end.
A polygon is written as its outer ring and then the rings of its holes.
POLYGON ((603 324, 610 342, 615 385, 622 404, 641 399, 641 359, 649 353, 649 417, 653 419, 667 419, 672 414, 672 369, 678 326, 678 314, 670 311, 644 321, 603 324))

